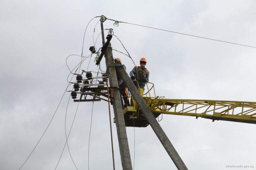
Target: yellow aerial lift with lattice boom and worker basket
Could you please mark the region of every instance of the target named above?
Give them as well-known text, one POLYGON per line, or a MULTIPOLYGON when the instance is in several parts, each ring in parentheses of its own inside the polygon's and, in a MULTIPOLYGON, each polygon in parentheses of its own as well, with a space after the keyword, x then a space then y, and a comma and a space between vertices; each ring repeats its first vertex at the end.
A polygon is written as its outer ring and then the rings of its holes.
MULTIPOLYGON (((141 89, 141 95, 142 92, 141 89)), ((160 114, 170 114, 201 117, 212 121, 222 120, 256 124, 256 102, 164 99, 151 97, 150 95, 147 97, 145 94, 143 99, 156 118, 160 114)), ((123 110, 126 126, 148 126, 136 102, 133 99, 131 101, 131 106, 123 110)))

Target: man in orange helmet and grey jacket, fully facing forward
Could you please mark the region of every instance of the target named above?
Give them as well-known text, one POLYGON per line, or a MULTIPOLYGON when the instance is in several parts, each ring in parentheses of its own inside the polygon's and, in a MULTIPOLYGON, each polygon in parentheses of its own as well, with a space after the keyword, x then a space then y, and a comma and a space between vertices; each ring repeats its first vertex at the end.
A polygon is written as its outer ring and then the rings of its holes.
POLYGON ((146 58, 140 59, 140 66, 135 66, 132 71, 130 72, 131 79, 133 81, 138 81, 138 83, 135 83, 135 86, 138 88, 141 88, 144 90, 145 88, 145 82, 149 81, 149 70, 145 68, 147 63, 146 58), (138 85, 139 84, 139 85, 138 85))

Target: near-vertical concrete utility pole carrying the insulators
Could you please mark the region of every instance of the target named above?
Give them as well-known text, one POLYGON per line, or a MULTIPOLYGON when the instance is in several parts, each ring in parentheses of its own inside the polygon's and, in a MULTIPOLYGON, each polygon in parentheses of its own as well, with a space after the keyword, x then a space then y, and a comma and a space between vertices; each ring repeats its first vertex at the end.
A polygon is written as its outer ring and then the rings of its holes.
MULTIPOLYGON (((116 69, 113 60, 113 53, 111 43, 108 44, 108 48, 104 53, 106 59, 107 73, 110 82, 110 87, 118 87, 116 69)), ((121 103, 121 97, 119 90, 114 90, 113 109, 116 120, 117 136, 119 142, 119 149, 121 154, 121 161, 123 170, 132 170, 132 162, 130 156, 130 150, 128 145, 128 139, 126 134, 123 108, 121 103)))

